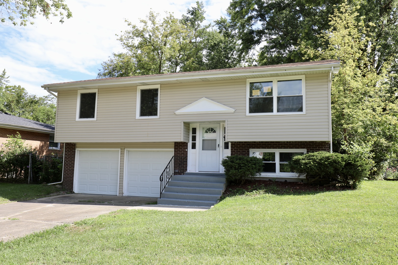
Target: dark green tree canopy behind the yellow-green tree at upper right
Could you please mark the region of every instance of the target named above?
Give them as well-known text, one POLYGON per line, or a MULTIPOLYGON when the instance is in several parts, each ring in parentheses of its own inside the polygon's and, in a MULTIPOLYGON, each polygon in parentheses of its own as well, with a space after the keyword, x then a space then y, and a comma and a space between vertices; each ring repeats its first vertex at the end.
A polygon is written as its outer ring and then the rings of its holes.
MULTIPOLYGON (((334 6, 345 0, 234 0, 229 12, 238 23, 244 48, 258 45, 260 65, 302 62, 305 57, 301 44, 314 49, 327 46, 318 36, 329 29, 329 15, 334 6)), ((369 49, 371 62, 379 69, 398 50, 397 0, 349 0, 349 6, 359 6, 356 18, 363 17, 365 27, 373 34, 369 49)), ((368 48, 368 47, 367 47, 368 48)), ((316 59, 316 58, 313 58, 316 59)))

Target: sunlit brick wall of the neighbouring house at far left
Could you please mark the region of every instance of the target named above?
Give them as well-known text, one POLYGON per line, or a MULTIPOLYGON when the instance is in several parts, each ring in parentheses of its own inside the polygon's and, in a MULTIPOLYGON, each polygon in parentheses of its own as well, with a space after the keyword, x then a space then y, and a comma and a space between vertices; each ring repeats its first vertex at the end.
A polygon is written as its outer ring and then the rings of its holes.
POLYGON ((18 132, 21 138, 25 140, 25 144, 31 145, 33 149, 36 149, 38 155, 51 155, 51 153, 62 155, 63 153, 63 143, 60 144, 60 150, 49 149, 49 133, 0 128, 0 144, 7 143, 8 135, 16 135, 18 132))

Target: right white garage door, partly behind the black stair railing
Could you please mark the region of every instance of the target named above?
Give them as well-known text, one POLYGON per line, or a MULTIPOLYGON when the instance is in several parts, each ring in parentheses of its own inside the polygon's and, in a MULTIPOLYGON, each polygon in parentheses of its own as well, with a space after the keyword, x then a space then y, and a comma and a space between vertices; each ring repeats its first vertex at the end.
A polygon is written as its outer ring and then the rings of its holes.
POLYGON ((125 195, 159 197, 159 177, 173 151, 127 151, 125 195))

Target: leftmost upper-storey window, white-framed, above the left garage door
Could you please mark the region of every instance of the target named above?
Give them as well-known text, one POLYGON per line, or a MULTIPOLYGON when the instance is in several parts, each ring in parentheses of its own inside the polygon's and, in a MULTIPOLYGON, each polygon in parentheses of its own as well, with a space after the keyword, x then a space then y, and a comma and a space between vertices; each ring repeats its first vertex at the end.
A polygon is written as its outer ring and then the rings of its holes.
POLYGON ((76 120, 97 120, 98 89, 78 90, 76 120))

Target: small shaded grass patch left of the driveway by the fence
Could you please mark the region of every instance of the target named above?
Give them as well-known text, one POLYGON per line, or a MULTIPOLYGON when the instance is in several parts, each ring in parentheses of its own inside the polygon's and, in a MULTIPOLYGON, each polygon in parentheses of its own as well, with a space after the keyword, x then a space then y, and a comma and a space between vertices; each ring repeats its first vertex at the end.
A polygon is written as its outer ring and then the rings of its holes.
POLYGON ((0 183, 0 204, 43 198, 58 191, 52 185, 0 183))

